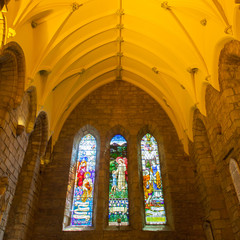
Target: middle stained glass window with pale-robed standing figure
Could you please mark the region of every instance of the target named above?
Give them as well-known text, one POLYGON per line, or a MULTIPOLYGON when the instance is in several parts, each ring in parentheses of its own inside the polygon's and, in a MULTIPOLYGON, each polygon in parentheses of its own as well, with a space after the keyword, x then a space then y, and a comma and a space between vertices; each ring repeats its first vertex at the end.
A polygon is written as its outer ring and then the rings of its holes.
POLYGON ((129 225, 127 142, 116 135, 110 142, 109 226, 129 225))

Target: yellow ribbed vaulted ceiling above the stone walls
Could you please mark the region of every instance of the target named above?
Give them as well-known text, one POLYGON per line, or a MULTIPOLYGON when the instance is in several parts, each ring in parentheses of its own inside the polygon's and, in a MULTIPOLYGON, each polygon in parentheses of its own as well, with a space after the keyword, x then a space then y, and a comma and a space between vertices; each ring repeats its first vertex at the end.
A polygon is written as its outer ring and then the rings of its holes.
POLYGON ((159 102, 187 151, 192 115, 205 114, 205 89, 218 89, 218 58, 239 39, 234 0, 11 0, 7 42, 26 58, 26 89, 37 88, 57 139, 73 108, 118 79, 159 102))

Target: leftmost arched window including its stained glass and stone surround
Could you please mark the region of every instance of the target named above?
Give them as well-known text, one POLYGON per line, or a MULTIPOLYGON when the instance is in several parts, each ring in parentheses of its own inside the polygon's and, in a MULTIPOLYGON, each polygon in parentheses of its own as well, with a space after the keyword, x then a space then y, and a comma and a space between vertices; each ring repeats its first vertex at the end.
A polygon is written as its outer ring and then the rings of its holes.
POLYGON ((98 169, 100 137, 86 125, 74 137, 63 230, 78 231, 95 225, 95 176, 98 169))

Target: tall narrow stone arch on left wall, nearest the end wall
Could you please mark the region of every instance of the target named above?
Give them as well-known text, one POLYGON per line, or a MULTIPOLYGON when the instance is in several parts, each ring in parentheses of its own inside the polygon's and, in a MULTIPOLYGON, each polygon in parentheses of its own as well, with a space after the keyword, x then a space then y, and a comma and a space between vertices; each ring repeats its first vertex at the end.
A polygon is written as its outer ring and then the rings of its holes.
POLYGON ((41 112, 29 136, 16 192, 10 209, 5 240, 31 239, 33 215, 40 190, 40 163, 47 145, 47 115, 41 112))

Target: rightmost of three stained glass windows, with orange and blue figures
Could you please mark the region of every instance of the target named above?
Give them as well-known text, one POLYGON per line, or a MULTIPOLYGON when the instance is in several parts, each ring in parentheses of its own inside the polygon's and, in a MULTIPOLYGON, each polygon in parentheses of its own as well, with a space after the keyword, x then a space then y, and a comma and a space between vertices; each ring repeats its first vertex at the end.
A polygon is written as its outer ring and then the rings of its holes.
POLYGON ((141 156, 146 224, 166 224, 158 146, 149 133, 141 140, 141 156))

